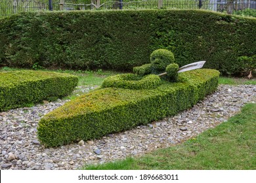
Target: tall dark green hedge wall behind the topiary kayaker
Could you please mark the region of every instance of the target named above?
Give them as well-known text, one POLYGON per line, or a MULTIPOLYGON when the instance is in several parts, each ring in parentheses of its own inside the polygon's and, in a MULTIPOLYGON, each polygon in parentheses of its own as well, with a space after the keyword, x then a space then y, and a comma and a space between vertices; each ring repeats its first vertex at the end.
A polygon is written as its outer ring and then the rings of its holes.
POLYGON ((0 20, 0 65, 128 70, 167 48, 182 65, 236 75, 256 54, 256 18, 203 10, 26 12, 0 20))

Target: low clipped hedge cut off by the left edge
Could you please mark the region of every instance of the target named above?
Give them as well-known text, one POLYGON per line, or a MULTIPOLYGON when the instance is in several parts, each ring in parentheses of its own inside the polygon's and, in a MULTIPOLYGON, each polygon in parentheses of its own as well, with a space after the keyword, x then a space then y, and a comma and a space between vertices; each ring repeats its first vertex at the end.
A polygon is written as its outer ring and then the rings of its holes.
POLYGON ((0 111, 24 107, 43 99, 51 100, 71 93, 78 78, 65 73, 11 71, 0 73, 0 111))

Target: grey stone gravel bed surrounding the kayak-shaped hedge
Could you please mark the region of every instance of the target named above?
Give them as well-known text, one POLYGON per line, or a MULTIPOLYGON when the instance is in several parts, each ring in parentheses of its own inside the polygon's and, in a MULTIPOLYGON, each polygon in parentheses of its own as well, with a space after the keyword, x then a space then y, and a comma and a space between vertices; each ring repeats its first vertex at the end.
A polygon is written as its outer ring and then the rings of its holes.
MULTIPOLYGON (((93 88, 80 86, 75 92, 93 88)), ((37 140, 37 123, 67 101, 0 112, 0 169, 78 169, 172 146, 225 122, 245 103, 255 103, 256 86, 220 85, 215 93, 175 116, 98 140, 45 148, 37 140)))

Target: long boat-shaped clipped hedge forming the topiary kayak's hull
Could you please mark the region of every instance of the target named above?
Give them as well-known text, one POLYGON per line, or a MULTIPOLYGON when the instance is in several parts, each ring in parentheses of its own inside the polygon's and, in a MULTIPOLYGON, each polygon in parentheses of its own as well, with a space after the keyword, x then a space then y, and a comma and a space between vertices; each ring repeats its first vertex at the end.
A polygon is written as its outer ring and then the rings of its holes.
POLYGON ((154 90, 102 88, 81 95, 39 121, 38 139, 45 146, 60 146, 177 114, 216 90, 219 71, 198 69, 179 77, 187 81, 168 82, 154 90))

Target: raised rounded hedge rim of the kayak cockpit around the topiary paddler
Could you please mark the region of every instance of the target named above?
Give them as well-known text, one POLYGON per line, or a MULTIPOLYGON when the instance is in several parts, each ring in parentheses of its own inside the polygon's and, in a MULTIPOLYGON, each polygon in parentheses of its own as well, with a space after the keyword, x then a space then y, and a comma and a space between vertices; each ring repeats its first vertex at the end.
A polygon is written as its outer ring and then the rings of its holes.
POLYGON ((102 88, 125 88, 133 90, 141 89, 153 89, 161 84, 160 76, 158 75, 147 75, 139 76, 133 74, 123 74, 110 76, 104 79, 102 88))

